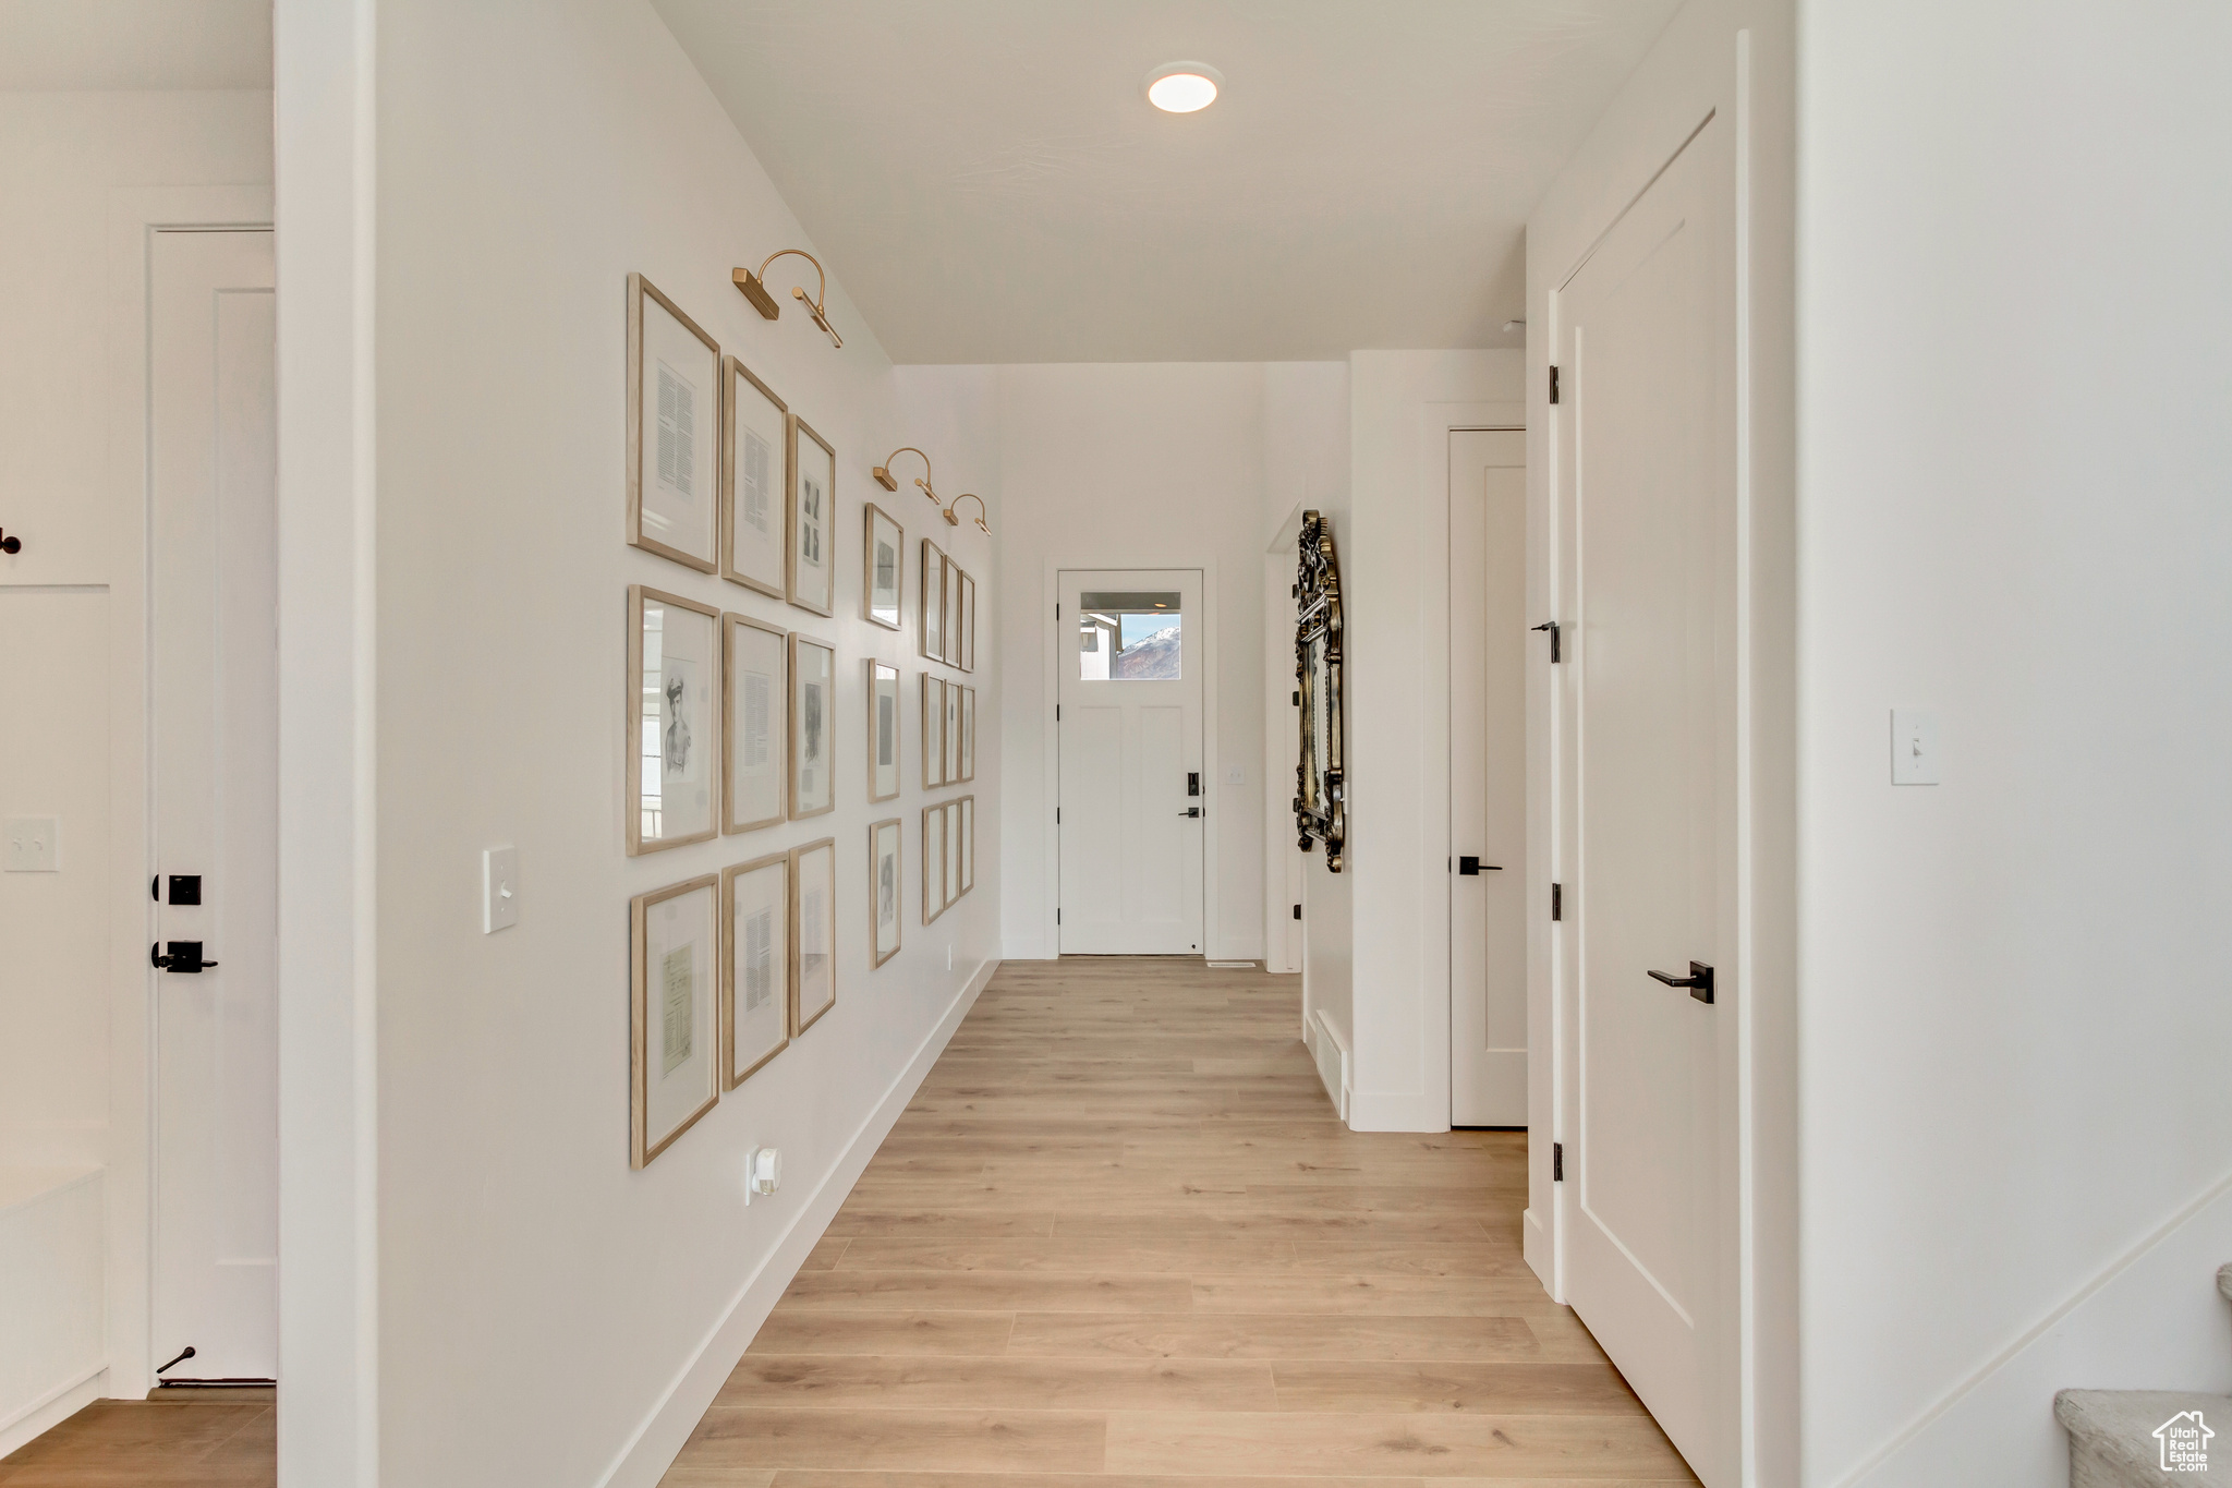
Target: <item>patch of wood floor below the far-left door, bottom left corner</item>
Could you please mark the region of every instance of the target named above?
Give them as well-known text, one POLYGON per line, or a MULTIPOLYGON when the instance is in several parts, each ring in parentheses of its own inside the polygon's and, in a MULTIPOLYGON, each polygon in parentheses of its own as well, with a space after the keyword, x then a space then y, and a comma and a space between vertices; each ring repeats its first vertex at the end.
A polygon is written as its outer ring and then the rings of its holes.
POLYGON ((270 1390, 165 1390, 94 1401, 0 1459, 0 1488, 272 1488, 270 1390))

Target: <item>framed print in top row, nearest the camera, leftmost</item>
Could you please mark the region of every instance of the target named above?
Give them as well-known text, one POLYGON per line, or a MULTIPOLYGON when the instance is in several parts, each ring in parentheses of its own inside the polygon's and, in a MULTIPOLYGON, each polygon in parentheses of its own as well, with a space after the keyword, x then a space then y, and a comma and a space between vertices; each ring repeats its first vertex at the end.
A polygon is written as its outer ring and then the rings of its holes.
POLYGON ((712 573, 721 348, 643 274, 627 277, 627 542, 712 573))

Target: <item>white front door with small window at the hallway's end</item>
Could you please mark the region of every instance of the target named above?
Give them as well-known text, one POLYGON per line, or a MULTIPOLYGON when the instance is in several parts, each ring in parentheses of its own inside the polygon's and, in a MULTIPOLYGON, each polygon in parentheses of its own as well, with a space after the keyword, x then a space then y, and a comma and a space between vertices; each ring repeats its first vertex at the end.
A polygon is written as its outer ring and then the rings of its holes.
POLYGON ((1201 571, 1062 571, 1060 946, 1199 955, 1201 571))

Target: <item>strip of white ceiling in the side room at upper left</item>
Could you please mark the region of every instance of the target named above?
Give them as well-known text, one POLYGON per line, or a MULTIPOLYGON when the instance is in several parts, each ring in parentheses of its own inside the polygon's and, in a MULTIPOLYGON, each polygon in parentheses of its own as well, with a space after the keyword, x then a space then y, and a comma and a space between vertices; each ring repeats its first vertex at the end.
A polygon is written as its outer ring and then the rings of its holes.
POLYGON ((0 0, 0 91, 270 85, 270 0, 0 0))

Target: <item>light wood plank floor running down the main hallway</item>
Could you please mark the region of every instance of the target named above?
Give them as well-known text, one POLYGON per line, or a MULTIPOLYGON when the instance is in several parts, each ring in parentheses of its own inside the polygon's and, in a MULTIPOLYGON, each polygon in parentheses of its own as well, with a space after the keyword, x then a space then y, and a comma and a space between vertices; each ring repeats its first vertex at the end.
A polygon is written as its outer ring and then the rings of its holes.
POLYGON ((1696 1481, 1520 1260, 1524 1136, 1355 1136, 1297 1024, 1002 966, 665 1488, 1696 1481))

